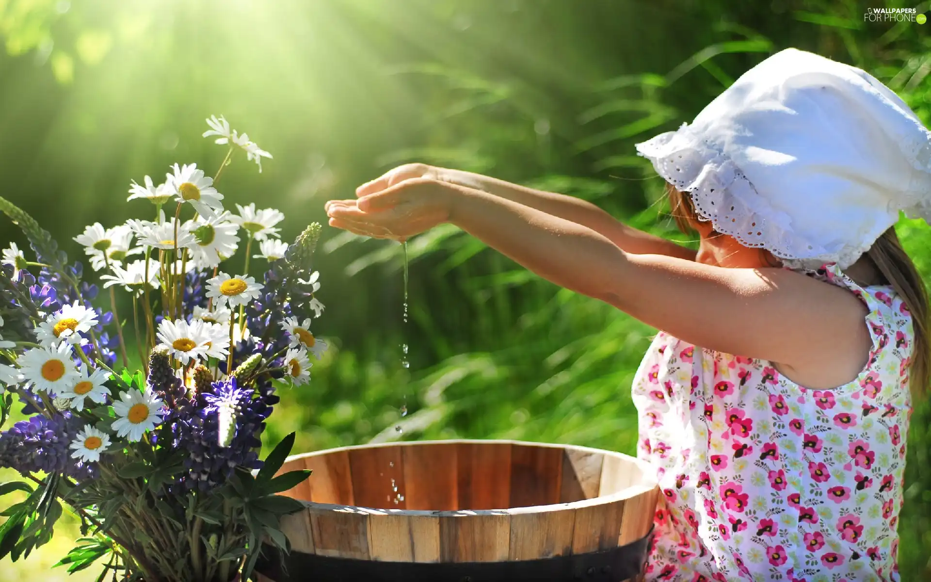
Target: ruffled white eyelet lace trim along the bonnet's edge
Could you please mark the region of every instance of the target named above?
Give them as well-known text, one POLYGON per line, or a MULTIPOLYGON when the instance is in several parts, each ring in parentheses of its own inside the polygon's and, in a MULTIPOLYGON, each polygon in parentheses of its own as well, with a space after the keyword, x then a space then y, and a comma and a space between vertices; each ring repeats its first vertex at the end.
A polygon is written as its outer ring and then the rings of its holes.
MULTIPOLYGON (((903 154, 915 169, 931 171, 931 142, 902 143, 903 154)), ((676 131, 637 144, 638 154, 653 162, 654 169, 677 190, 688 192, 701 220, 735 237, 740 244, 765 249, 789 268, 816 269, 825 263, 841 268, 854 264, 873 242, 822 246, 801 240, 792 232, 791 218, 774 209, 720 148, 696 134, 688 123, 676 131)), ((911 217, 931 222, 931 199, 924 186, 913 181, 903 193, 900 208, 911 217), (910 208, 911 207, 911 208, 910 208)), ((925 182, 926 184, 926 182, 925 182)))

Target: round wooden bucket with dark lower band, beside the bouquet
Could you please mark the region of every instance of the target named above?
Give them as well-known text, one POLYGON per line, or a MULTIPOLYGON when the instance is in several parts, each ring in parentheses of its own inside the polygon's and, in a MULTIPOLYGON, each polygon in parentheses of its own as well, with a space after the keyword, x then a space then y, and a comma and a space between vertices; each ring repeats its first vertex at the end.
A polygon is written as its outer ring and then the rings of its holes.
POLYGON ((289 555, 263 582, 636 580, 659 489, 621 453, 511 440, 440 440, 290 456, 289 555))

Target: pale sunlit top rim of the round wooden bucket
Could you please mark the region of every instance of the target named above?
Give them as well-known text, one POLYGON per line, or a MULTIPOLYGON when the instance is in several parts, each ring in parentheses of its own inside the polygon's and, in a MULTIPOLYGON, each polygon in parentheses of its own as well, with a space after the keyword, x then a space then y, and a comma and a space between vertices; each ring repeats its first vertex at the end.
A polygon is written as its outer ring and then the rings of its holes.
MULTIPOLYGON (((500 508, 500 509, 448 509, 448 510, 430 510, 430 509, 393 509, 393 508, 370 508, 365 506, 350 506, 342 504, 332 504, 332 503, 317 503, 314 501, 306 501, 304 499, 298 499, 304 508, 313 509, 317 511, 337 511, 340 513, 358 513, 363 515, 378 516, 378 515, 404 515, 404 516, 424 516, 424 517, 479 517, 479 516, 489 516, 489 515, 525 515, 528 513, 543 513, 546 511, 565 511, 573 510, 577 508, 589 508, 592 506, 599 506, 603 504, 612 503, 614 501, 621 501, 624 499, 630 499, 641 494, 647 494, 654 490, 657 490, 659 483, 650 477, 651 467, 649 464, 641 461, 637 457, 630 456, 629 454, 617 453, 616 451, 608 451, 605 449, 596 449, 593 447, 584 447, 574 444, 558 444, 551 442, 533 442, 528 440, 494 440, 494 439, 450 439, 450 440, 399 440, 396 442, 379 442, 372 444, 358 444, 345 447, 335 447, 332 449, 323 449, 321 451, 313 451, 311 453, 299 453, 292 454, 287 459, 285 459, 284 465, 292 461, 299 459, 305 459, 308 457, 314 456, 323 456, 331 453, 342 453, 344 451, 355 451, 358 449, 379 449, 379 448, 390 448, 390 447, 410 447, 410 446, 424 446, 424 445, 436 445, 436 444, 511 444, 519 446, 528 446, 528 447, 539 447, 539 448, 550 448, 550 449, 560 449, 560 450, 572 450, 580 453, 600 453, 605 456, 612 456, 614 458, 620 459, 631 465, 635 465, 641 470, 641 479, 637 483, 631 483, 629 486, 625 487, 621 491, 615 492, 613 494, 599 495, 596 497, 591 497, 590 499, 581 499, 579 501, 572 501, 569 503, 556 503, 543 506, 528 506, 523 508, 500 508)), ((284 466, 282 466, 284 467, 284 466)), ((311 476, 310 479, 313 479, 311 476)))

